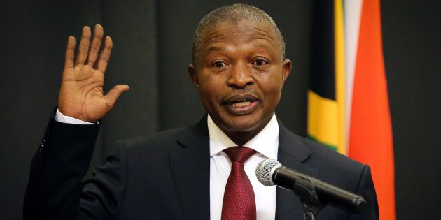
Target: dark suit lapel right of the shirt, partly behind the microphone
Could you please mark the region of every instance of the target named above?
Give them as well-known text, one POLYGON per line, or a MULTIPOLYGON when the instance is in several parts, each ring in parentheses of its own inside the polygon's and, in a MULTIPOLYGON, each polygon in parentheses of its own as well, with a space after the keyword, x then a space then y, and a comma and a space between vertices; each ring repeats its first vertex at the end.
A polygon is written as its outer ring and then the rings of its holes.
MULTIPOLYGON (((283 166, 316 177, 317 170, 304 164, 311 156, 311 151, 303 145, 297 135, 288 131, 279 123, 279 154, 278 160, 283 166)), ((300 200, 293 191, 277 187, 276 219, 297 219, 302 217, 303 210, 300 200)))

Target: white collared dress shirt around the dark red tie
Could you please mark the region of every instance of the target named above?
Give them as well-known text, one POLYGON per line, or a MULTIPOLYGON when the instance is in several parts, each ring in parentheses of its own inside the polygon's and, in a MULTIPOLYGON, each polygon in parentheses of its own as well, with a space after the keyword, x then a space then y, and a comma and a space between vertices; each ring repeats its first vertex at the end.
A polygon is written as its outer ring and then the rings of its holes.
MULTIPOLYGON (((218 220, 221 219, 223 193, 232 165, 223 150, 237 145, 214 124, 210 115, 207 117, 207 124, 210 134, 210 219, 218 220)), ((276 115, 273 115, 265 128, 244 146, 257 152, 244 163, 245 173, 254 189, 257 219, 275 219, 276 186, 262 185, 255 177, 255 167, 263 159, 277 159, 279 124, 276 115)))

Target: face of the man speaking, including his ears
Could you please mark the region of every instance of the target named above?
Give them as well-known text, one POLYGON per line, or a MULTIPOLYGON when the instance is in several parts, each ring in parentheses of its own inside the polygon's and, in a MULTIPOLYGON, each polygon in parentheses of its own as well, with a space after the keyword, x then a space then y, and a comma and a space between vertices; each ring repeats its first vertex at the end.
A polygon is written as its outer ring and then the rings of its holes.
POLYGON ((197 64, 188 69, 204 108, 227 135, 257 134, 279 103, 291 62, 282 60, 271 33, 247 20, 202 33, 197 64))

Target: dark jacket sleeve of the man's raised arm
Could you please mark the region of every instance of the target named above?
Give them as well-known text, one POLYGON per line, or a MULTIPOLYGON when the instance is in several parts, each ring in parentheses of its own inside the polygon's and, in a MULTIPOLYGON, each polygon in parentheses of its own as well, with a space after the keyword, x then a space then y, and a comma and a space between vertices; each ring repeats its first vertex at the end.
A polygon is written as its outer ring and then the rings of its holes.
POLYGON ((99 125, 50 120, 31 161, 23 219, 108 219, 125 189, 125 152, 121 147, 94 178, 87 173, 99 125))

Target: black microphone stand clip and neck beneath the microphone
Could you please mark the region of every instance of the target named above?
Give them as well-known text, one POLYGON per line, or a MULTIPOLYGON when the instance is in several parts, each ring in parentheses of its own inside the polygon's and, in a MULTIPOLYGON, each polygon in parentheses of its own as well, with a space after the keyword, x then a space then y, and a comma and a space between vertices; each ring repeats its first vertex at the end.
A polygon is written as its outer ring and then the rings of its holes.
POLYGON ((321 203, 317 196, 314 182, 304 177, 295 181, 293 187, 294 194, 300 198, 304 211, 305 220, 318 220, 318 212, 326 205, 321 203))

